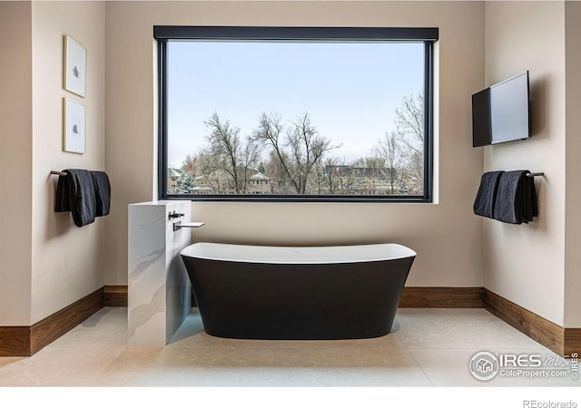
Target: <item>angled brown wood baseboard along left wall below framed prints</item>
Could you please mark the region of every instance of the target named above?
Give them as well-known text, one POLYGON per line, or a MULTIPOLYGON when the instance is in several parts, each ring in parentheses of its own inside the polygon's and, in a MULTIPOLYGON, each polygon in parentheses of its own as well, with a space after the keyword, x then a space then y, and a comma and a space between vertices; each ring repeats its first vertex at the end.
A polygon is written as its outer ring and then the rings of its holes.
POLYGON ((77 300, 71 306, 48 316, 31 327, 30 349, 32 354, 50 345, 54 340, 81 324, 103 308, 103 287, 77 300))

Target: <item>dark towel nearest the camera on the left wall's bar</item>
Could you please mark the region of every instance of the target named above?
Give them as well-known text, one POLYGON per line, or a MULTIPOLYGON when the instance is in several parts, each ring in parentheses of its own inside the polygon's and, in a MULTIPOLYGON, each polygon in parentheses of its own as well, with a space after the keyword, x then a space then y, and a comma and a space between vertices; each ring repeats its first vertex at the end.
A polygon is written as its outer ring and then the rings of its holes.
POLYGON ((56 185, 56 212, 71 211, 74 225, 83 227, 94 222, 94 182, 89 170, 66 169, 56 185))

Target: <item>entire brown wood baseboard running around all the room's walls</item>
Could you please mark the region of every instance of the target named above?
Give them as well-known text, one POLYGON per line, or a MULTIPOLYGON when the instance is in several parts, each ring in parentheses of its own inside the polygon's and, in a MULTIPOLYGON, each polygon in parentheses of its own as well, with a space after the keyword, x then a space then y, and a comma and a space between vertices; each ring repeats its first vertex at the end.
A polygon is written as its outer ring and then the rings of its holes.
MULTIPOLYGON (((127 287, 102 287, 32 326, 0 326, 0 357, 34 355, 103 306, 126 307, 127 287)), ((404 287, 399 307, 485 308, 558 355, 581 352, 581 328, 563 328, 484 287, 404 287)))

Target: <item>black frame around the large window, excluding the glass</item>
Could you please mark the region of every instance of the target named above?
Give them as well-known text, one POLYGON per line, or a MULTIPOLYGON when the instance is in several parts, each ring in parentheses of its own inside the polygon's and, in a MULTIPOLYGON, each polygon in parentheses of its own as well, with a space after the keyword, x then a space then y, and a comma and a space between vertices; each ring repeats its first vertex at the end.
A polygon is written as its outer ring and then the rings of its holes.
POLYGON ((258 202, 433 202, 434 154, 434 44, 438 28, 434 27, 274 27, 274 26, 179 26, 155 25, 158 57, 158 197, 192 201, 258 201, 258 202), (167 192, 167 44, 176 40, 224 41, 381 41, 423 42, 424 58, 424 194, 422 196, 362 195, 197 195, 167 192))

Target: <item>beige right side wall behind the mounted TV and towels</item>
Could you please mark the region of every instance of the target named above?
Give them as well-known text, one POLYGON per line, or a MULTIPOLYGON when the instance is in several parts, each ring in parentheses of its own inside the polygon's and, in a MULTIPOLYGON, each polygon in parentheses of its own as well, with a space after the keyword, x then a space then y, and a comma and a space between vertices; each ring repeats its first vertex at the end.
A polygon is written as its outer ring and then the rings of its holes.
POLYGON ((536 180, 539 217, 535 222, 515 226, 483 220, 484 283, 498 295, 563 325, 564 4, 487 2, 485 9, 486 84, 530 72, 533 138, 484 148, 484 170, 528 169, 544 171, 545 177, 536 180))

